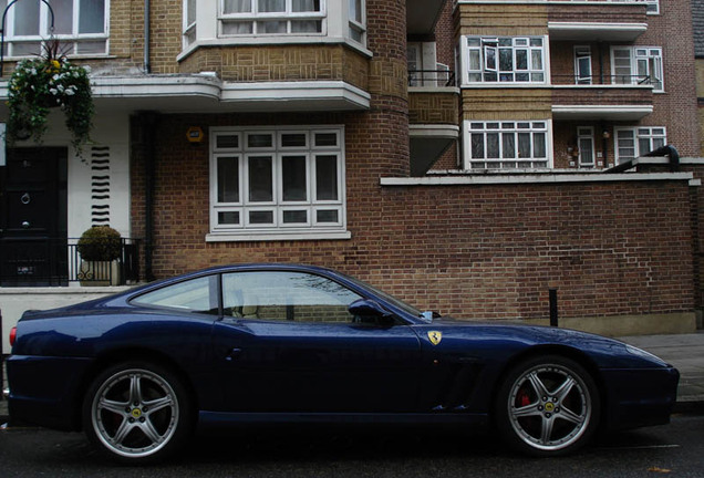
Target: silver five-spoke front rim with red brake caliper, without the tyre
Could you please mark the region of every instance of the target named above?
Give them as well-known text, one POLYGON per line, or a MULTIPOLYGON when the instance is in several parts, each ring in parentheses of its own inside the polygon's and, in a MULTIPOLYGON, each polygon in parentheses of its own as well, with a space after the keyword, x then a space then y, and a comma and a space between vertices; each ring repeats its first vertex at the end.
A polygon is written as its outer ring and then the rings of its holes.
POLYGON ((525 371, 508 396, 508 416, 525 444, 545 451, 569 447, 590 425, 592 397, 584 381, 559 364, 525 371))

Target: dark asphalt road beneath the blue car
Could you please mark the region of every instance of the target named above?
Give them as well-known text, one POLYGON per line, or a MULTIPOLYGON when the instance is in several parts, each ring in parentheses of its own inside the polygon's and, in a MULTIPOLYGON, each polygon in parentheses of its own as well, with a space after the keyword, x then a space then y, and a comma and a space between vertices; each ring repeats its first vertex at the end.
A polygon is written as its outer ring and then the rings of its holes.
POLYGON ((0 430, 0 476, 9 477, 703 477, 704 415, 602 436, 563 458, 530 459, 487 434, 458 429, 250 428, 198 438, 177 459, 113 465, 81 434, 0 430))

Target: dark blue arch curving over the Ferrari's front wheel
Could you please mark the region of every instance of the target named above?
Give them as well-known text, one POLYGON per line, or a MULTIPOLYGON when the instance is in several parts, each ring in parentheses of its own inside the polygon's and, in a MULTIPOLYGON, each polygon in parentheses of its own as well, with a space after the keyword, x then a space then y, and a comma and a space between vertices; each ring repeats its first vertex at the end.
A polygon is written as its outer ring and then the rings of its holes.
POLYGON ((494 383, 494 387, 491 389, 491 408, 490 408, 491 420, 496 419, 495 408, 498 405, 497 398, 498 398, 499 388, 501 387, 501 384, 504 383, 509 372, 521 362, 529 358, 537 357, 537 356, 542 356, 542 355, 558 355, 565 358, 570 358, 577 362, 579 365, 581 365, 589 373, 589 375, 594 381, 594 384, 597 385, 597 389, 599 392, 599 404, 601 408, 601 417, 600 417, 599 426, 601 427, 603 425, 605 417, 608 416, 608 409, 607 409, 608 397, 607 397, 607 387, 603 381, 603 376, 601 375, 601 372, 599 371, 599 367, 584 352, 578 349, 566 346, 566 345, 553 345, 553 344, 532 346, 530 349, 521 351, 520 353, 511 356, 510 360, 508 360, 504 364, 500 373, 498 374, 498 380, 496 380, 496 382, 494 383))

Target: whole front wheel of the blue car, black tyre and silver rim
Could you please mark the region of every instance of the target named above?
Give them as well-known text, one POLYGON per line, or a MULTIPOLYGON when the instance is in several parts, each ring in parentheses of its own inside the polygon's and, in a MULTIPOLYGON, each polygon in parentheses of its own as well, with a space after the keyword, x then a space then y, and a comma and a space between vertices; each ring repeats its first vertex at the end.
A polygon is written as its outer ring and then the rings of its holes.
POLYGON ((494 414, 501 438, 518 451, 567 455, 586 445, 599 425, 599 389, 577 362, 535 356, 508 372, 494 414))

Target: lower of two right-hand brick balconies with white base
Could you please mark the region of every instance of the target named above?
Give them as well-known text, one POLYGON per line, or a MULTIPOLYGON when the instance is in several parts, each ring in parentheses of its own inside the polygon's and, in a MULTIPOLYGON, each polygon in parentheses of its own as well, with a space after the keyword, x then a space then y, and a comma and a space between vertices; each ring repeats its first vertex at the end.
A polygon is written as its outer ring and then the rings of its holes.
POLYGON ((649 76, 552 76, 552 117, 556 119, 636 121, 653 112, 649 76))

